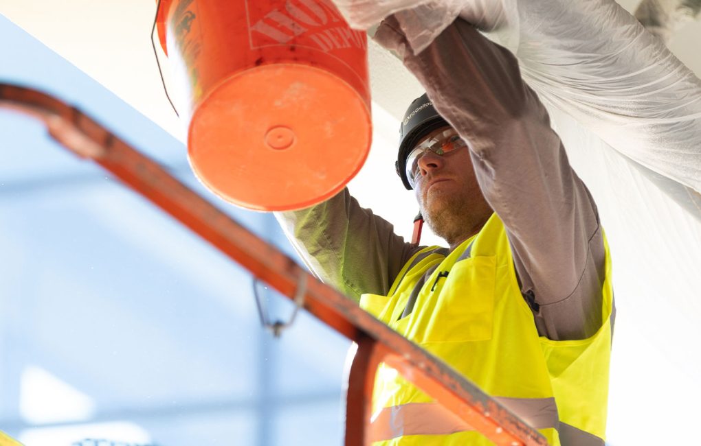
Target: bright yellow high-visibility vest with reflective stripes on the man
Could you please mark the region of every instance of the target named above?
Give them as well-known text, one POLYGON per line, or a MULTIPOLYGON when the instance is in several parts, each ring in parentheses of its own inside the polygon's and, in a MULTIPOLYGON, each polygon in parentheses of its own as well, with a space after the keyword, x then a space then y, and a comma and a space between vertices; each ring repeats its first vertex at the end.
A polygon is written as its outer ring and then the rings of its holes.
MULTIPOLYGON (((507 405, 549 444, 604 445, 613 307, 604 244, 604 323, 586 340, 538 335, 496 214, 447 256, 435 246, 416 253, 388 295, 362 295, 360 306, 507 405), (406 314, 410 296, 415 305, 406 314)), ((371 431, 376 446, 492 444, 385 364, 371 431)))

